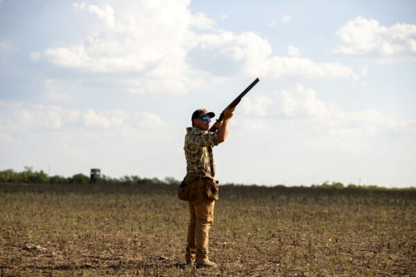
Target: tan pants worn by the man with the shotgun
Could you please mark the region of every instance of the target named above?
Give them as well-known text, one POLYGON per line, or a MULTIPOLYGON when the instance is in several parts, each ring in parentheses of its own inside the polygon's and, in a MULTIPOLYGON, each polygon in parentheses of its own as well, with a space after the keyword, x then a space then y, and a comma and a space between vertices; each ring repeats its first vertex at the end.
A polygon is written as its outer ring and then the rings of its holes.
MULTIPOLYGON (((185 182, 195 179, 194 176, 185 177, 185 182)), ((214 222, 214 206, 215 202, 205 199, 202 190, 205 188, 205 180, 196 180, 198 198, 195 201, 189 201, 190 220, 187 236, 187 252, 185 258, 187 263, 202 263, 209 260, 208 242, 209 229, 214 222)))

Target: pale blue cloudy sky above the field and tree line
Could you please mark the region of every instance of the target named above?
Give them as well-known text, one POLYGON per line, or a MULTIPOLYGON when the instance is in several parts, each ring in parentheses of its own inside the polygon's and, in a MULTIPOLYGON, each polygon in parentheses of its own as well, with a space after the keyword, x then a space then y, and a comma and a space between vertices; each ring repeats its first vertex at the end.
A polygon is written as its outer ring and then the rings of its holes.
POLYGON ((220 183, 416 186, 415 1, 0 0, 0 170, 186 173, 255 78, 220 183))

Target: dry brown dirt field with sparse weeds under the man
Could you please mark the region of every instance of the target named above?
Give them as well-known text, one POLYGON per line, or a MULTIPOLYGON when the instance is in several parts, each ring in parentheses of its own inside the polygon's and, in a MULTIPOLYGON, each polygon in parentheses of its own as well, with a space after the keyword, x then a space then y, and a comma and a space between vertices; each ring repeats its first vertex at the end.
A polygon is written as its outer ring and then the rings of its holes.
POLYGON ((0 184, 0 276, 416 276, 416 192, 223 186, 218 269, 174 186, 0 184))

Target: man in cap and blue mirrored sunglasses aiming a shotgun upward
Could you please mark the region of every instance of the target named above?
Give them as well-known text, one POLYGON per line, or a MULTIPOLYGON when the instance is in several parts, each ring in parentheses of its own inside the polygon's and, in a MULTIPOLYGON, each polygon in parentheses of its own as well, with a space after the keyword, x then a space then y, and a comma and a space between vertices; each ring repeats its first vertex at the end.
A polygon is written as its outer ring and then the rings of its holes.
POLYGON ((197 198, 194 201, 189 201, 191 218, 188 226, 185 258, 188 265, 196 264, 197 268, 217 267, 215 262, 209 260, 208 251, 209 229, 214 222, 215 200, 208 199, 209 197, 204 193, 207 190, 207 182, 211 181, 211 184, 216 184, 212 148, 218 143, 223 143, 227 138, 229 120, 233 116, 234 109, 235 107, 224 111, 223 122, 216 123, 218 132, 208 132, 209 123, 215 114, 207 109, 197 109, 191 117, 192 127, 187 128, 185 136, 187 176, 184 178, 184 184, 197 182, 197 198))

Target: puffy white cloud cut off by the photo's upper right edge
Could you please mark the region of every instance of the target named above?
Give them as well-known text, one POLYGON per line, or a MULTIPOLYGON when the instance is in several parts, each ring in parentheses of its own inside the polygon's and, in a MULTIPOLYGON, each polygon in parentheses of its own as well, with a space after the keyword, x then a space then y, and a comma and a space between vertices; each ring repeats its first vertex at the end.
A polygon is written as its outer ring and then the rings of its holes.
POLYGON ((356 17, 337 30, 338 48, 345 55, 416 55, 416 25, 396 23, 382 26, 375 19, 356 17))

